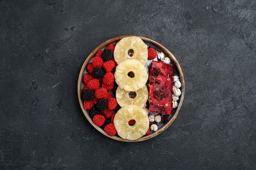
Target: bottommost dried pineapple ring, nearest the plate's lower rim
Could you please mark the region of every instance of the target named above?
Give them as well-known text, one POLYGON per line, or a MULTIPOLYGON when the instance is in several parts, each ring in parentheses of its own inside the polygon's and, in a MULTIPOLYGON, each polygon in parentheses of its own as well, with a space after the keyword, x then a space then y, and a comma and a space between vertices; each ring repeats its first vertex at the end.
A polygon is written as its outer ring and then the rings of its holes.
POLYGON ((126 105, 117 111, 114 125, 120 137, 128 140, 139 139, 148 131, 148 112, 139 106, 126 105), (135 124, 129 125, 130 120, 135 120, 135 124))

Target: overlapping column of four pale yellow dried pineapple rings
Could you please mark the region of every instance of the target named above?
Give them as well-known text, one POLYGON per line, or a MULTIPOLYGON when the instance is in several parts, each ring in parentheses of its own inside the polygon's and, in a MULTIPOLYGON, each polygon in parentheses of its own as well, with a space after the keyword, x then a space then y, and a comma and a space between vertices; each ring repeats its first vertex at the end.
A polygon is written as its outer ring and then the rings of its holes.
POLYGON ((148 100, 145 67, 148 48, 141 38, 126 37, 116 44, 114 58, 118 64, 115 70, 115 81, 119 85, 116 98, 121 106, 114 125, 120 137, 135 140, 145 135, 149 128, 148 111, 143 109, 148 100), (132 57, 128 54, 130 50, 133 50, 132 57), (130 120, 135 124, 129 125, 130 120))

